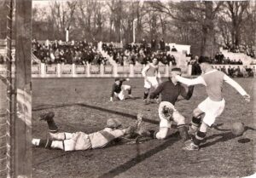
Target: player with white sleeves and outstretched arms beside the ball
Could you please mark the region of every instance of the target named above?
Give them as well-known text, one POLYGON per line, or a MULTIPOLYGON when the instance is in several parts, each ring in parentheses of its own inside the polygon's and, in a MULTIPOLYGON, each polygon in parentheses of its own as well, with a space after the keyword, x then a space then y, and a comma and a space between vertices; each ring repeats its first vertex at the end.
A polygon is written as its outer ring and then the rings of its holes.
POLYGON ((189 133, 195 135, 195 138, 184 147, 186 150, 198 150, 201 141, 207 135, 207 128, 211 127, 215 122, 215 119, 224 111, 225 100, 223 98, 223 82, 229 83, 235 88, 245 100, 250 101, 250 95, 241 88, 233 79, 228 77, 224 72, 219 72, 213 69, 211 61, 207 57, 201 57, 199 60, 201 70, 203 74, 195 79, 183 78, 176 75, 176 79, 180 83, 186 85, 203 84, 207 89, 207 99, 203 100, 199 106, 197 106, 193 112, 193 118, 191 121, 191 127, 189 133), (201 115, 205 113, 205 117, 201 115))

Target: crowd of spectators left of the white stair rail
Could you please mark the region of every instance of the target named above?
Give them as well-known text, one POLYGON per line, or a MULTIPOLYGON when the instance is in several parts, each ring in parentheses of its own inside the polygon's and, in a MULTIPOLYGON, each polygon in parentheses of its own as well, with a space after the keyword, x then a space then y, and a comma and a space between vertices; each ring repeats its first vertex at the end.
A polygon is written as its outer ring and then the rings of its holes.
POLYGON ((55 40, 39 43, 36 39, 32 40, 32 53, 38 57, 41 62, 46 64, 106 64, 107 59, 102 57, 97 51, 96 44, 84 41, 62 42, 55 40))

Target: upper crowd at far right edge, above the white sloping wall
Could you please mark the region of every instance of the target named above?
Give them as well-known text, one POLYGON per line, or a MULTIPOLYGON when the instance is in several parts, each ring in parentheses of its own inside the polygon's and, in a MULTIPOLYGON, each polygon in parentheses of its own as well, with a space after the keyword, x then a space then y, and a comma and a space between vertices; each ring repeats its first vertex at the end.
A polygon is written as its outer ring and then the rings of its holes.
POLYGON ((253 49, 252 46, 248 46, 248 45, 239 45, 239 46, 235 46, 235 45, 228 45, 228 46, 224 46, 223 49, 227 49, 229 52, 232 53, 244 53, 252 58, 256 58, 256 51, 255 49, 253 49))

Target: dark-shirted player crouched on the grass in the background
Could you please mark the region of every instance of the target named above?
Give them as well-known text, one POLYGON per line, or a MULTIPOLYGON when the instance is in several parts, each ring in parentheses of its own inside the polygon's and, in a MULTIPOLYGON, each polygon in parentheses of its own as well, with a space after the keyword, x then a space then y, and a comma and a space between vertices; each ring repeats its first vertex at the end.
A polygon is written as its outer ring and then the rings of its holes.
POLYGON ((128 91, 128 97, 131 99, 134 99, 134 97, 131 95, 131 86, 130 85, 123 85, 123 82, 130 81, 129 78, 120 79, 115 78, 114 83, 112 85, 110 100, 113 102, 113 96, 115 96, 119 100, 125 100, 125 91, 128 91))

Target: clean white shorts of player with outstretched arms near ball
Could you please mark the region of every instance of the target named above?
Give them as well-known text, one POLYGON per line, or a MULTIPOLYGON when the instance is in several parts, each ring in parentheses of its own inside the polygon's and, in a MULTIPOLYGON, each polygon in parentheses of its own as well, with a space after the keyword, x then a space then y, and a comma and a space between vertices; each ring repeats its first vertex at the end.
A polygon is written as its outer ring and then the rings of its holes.
POLYGON ((206 100, 203 100, 198 108, 206 113, 206 116, 203 118, 203 122, 207 123, 208 126, 211 126, 215 122, 216 118, 224 111, 225 100, 213 101, 209 97, 206 100))

